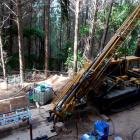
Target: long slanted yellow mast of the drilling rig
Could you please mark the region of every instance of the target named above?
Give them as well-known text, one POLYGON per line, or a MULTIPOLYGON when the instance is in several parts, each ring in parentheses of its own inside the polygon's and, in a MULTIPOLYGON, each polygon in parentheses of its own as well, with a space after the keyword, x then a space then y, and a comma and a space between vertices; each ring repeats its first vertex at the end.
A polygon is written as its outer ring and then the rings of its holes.
POLYGON ((66 112, 72 111, 78 100, 81 100, 102 78, 103 72, 108 67, 114 52, 126 39, 127 35, 135 28, 140 18, 140 4, 116 31, 105 48, 86 70, 80 71, 74 79, 63 89, 61 95, 53 102, 52 112, 63 117, 66 112))

